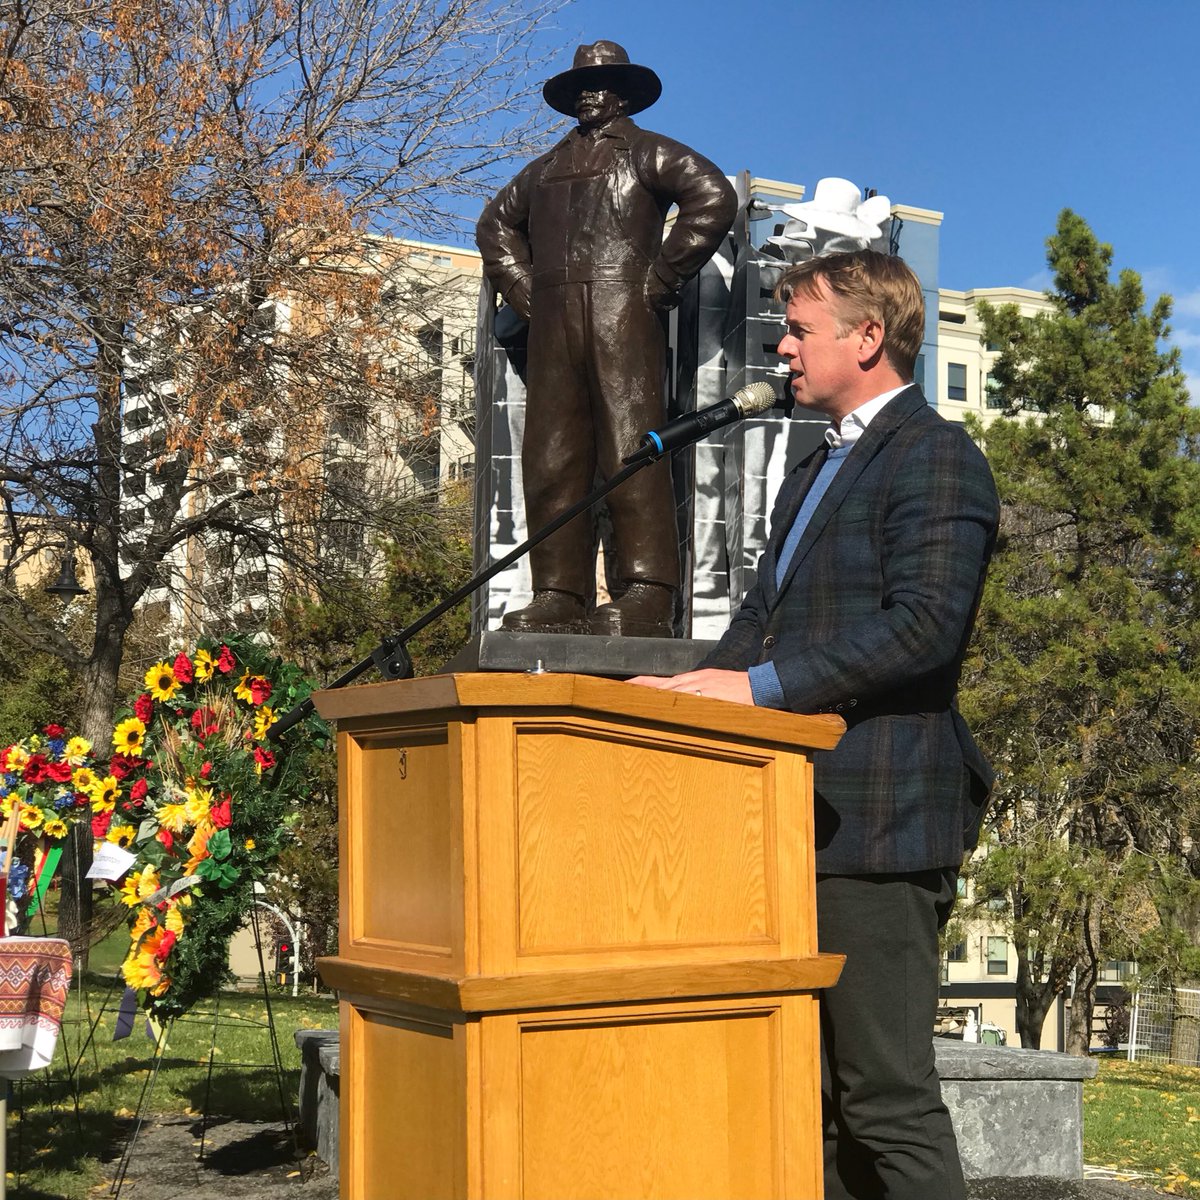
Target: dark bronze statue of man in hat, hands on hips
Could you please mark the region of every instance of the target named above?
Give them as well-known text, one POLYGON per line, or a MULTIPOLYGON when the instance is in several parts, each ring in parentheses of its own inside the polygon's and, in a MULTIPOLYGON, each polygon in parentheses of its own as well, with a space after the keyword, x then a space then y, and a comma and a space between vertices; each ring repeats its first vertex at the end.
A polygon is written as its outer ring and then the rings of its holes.
MULTIPOLYGON (((575 52, 546 102, 578 126, 487 205, 484 269, 529 322, 522 445, 530 532, 620 469, 666 418, 665 313, 728 233, 737 198, 695 150, 636 126, 662 91, 616 42, 575 52), (664 222, 678 215, 666 241, 664 222)), ((670 464, 608 496, 617 599, 588 617, 595 572, 589 527, 572 522, 529 556, 533 602, 503 626, 536 632, 672 636, 679 547, 670 464)))

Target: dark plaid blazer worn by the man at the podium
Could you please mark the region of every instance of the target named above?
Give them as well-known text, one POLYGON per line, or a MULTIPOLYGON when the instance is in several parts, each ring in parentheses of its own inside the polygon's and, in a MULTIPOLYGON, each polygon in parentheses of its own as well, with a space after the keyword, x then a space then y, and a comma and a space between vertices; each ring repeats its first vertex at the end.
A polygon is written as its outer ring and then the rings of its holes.
POLYGON ((836 749, 814 754, 818 872, 958 866, 992 785, 954 707, 1000 516, 991 472, 907 388, 847 455, 776 588, 824 457, 784 481, 757 583, 701 665, 769 660, 791 712, 845 718, 836 749))

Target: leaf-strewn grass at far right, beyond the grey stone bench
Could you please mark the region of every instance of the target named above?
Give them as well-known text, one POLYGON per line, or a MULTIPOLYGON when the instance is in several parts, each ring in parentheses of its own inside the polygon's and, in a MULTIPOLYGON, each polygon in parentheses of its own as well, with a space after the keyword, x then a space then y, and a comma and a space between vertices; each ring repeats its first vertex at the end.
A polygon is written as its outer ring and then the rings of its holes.
POLYGON ((1200 1198, 1200 1068, 1100 1062, 1084 1084, 1084 1160, 1200 1198))

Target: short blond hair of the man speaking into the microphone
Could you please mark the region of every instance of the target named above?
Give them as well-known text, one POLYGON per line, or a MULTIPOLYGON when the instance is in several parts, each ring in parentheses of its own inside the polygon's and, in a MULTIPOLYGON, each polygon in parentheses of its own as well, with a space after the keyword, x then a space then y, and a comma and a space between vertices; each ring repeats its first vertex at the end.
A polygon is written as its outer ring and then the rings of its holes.
POLYGON ((880 322, 888 361, 896 374, 911 379, 925 340, 925 296, 912 268, 877 250, 822 254, 790 266, 775 287, 775 299, 816 300, 822 281, 834 298, 839 335, 864 320, 880 322))

